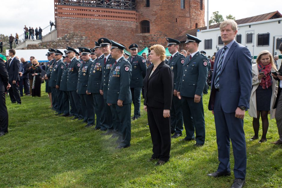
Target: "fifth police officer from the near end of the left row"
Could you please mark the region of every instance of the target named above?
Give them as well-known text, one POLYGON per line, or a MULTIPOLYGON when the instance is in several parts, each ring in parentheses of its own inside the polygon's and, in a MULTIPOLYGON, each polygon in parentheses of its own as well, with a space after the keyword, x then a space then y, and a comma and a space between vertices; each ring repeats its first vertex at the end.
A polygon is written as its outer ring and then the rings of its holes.
POLYGON ((77 81, 78 81, 78 71, 80 67, 80 62, 76 59, 76 50, 72 47, 66 47, 66 53, 68 58, 70 58, 70 64, 68 66, 67 72, 67 91, 70 94, 70 105, 73 108, 74 117, 72 120, 78 119, 82 120, 82 108, 80 97, 77 94, 77 81))

